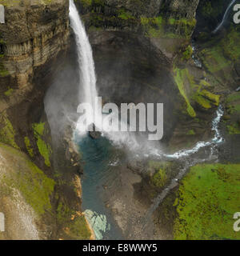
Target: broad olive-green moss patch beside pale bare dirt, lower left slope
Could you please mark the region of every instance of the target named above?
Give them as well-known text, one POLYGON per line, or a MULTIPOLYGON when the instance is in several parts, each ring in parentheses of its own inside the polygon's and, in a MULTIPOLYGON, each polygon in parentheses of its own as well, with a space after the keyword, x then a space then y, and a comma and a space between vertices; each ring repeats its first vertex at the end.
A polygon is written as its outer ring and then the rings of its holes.
POLYGON ((42 215, 46 211, 50 212, 50 195, 54 191, 54 180, 46 177, 46 174, 38 166, 35 166, 26 157, 26 154, 1 143, 0 146, 8 152, 14 161, 18 162, 17 169, 3 177, 3 182, 10 188, 19 190, 36 214, 42 215))

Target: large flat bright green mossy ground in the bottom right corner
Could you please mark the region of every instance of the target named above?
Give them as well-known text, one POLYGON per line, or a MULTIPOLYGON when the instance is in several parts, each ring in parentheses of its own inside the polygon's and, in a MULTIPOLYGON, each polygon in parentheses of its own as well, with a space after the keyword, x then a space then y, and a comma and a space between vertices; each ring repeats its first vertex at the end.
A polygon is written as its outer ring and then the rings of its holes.
POLYGON ((240 239, 233 230, 239 211, 240 165, 197 165, 179 187, 175 239, 240 239))

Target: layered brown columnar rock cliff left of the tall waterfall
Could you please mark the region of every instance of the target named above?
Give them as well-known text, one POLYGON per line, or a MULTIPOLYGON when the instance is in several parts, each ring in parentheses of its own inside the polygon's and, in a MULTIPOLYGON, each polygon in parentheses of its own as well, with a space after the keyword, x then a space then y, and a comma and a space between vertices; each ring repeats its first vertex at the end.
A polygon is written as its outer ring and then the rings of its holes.
POLYGON ((5 13, 6 24, 0 25, 0 92, 8 103, 3 99, 0 111, 10 102, 20 102, 21 96, 32 90, 34 70, 66 50, 69 38, 67 0, 48 5, 26 2, 24 6, 8 1, 5 13))

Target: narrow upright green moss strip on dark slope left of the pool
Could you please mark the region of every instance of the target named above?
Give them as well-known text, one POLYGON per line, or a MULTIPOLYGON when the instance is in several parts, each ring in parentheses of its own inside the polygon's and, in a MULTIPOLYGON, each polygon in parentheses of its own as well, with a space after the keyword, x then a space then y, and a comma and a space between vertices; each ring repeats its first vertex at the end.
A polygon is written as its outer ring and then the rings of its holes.
POLYGON ((52 150, 50 148, 50 145, 43 140, 45 123, 44 122, 34 123, 33 129, 34 129, 34 137, 37 139, 38 151, 42 155, 42 157, 45 159, 46 166, 50 166, 50 154, 52 153, 52 150))

